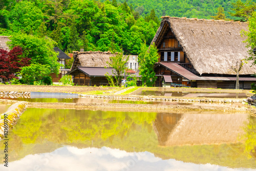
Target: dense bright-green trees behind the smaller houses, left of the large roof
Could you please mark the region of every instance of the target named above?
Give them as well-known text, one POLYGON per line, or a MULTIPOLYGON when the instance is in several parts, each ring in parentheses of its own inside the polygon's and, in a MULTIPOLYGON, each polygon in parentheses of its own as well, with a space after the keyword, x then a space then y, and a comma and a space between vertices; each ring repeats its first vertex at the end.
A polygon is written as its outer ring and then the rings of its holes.
POLYGON ((0 5, 0 35, 48 36, 67 52, 122 49, 138 54, 141 42, 150 45, 160 23, 154 10, 144 19, 126 2, 9 0, 0 5))

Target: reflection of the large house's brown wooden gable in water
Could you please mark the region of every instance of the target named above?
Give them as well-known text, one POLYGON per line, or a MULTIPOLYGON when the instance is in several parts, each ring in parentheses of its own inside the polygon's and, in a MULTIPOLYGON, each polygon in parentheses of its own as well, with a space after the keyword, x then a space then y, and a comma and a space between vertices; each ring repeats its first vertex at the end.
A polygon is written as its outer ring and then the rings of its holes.
POLYGON ((159 145, 166 145, 168 135, 178 123, 182 114, 159 113, 153 123, 154 131, 157 134, 159 145))

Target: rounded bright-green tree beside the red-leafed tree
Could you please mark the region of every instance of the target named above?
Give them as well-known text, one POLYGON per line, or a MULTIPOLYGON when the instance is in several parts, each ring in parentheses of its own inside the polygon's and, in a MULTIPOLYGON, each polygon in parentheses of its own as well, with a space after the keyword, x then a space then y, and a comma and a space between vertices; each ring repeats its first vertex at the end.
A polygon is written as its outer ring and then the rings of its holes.
POLYGON ((23 67, 20 71, 24 83, 33 83, 32 80, 41 80, 51 73, 58 74, 60 64, 57 53, 53 50, 56 42, 52 39, 15 33, 10 40, 7 43, 10 49, 19 46, 23 49, 22 56, 31 58, 31 66, 23 67))

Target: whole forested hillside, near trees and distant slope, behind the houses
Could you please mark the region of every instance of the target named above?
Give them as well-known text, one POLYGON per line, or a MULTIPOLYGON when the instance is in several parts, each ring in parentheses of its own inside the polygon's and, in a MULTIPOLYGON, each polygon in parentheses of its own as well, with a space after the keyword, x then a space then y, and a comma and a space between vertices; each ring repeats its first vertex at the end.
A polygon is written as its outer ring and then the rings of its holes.
POLYGON ((221 6, 226 18, 232 18, 228 12, 236 0, 101 1, 0 0, 0 35, 15 40, 47 36, 66 52, 83 48, 138 54, 142 42, 150 45, 160 16, 211 18, 221 6))

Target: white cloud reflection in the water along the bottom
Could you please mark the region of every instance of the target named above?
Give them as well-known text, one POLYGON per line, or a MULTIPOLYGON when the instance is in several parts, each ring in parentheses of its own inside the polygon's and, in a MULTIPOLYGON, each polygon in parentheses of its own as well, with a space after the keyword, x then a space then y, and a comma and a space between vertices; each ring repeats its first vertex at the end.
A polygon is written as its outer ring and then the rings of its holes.
MULTIPOLYGON (((0 165, 0 170, 55 171, 55 170, 246 170, 232 169, 212 164, 194 164, 162 160, 149 152, 127 153, 109 147, 83 148, 61 147, 52 153, 28 155, 23 159, 0 165)), ((251 170, 251 169, 247 169, 251 170)))

